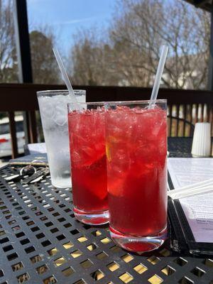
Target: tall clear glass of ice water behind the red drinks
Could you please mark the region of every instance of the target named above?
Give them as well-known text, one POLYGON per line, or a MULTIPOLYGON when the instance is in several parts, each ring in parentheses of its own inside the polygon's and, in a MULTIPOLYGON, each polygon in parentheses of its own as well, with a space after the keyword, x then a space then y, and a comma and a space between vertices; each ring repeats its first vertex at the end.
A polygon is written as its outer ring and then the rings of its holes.
MULTIPOLYGON (((74 92, 78 102, 85 102, 86 91, 76 89, 74 92)), ((71 187, 67 126, 70 95, 66 90, 53 90, 37 92, 37 96, 52 184, 61 188, 71 187)))

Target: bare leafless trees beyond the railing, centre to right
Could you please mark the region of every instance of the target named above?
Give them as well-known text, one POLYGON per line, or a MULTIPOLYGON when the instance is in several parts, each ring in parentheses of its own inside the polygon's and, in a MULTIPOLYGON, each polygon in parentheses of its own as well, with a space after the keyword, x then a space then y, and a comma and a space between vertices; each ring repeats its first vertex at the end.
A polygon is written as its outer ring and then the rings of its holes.
POLYGON ((166 43, 164 86, 207 87, 207 12, 180 0, 119 0, 108 34, 97 40, 97 31, 79 33, 71 51, 75 84, 151 86, 160 45, 166 43))

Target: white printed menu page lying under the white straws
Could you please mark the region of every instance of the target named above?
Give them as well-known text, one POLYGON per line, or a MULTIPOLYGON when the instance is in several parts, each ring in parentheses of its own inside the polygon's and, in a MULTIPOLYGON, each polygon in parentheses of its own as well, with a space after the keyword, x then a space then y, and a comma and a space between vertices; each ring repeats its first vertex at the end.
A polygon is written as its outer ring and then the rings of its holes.
MULTIPOLYGON (((168 158, 175 188, 213 178, 213 158, 168 158)), ((213 243, 213 188, 211 193, 180 199, 197 242, 213 243)))

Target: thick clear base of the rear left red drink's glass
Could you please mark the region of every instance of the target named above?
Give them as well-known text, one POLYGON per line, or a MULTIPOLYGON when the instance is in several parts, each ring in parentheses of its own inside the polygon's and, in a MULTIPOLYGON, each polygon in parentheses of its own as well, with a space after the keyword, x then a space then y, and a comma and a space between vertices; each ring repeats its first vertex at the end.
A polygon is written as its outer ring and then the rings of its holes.
POLYGON ((88 225, 104 225, 109 222, 109 211, 89 213, 74 207, 75 218, 88 225))

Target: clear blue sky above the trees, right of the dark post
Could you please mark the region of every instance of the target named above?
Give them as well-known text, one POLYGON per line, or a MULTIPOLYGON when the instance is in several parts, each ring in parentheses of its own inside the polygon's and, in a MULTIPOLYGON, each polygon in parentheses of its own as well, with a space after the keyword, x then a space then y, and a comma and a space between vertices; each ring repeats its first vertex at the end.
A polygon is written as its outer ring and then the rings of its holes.
POLYGON ((53 26, 58 48, 67 53, 79 28, 109 25, 116 0, 27 0, 27 4, 30 31, 45 24, 53 26))

